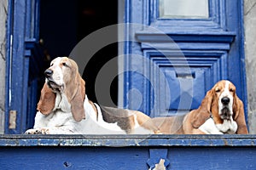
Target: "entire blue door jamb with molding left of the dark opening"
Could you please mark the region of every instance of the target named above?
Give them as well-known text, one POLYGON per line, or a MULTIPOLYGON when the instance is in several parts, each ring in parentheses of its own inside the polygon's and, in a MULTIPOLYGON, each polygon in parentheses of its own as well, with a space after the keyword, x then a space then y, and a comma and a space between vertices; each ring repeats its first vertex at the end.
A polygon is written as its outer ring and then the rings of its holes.
POLYGON ((38 38, 39 3, 39 0, 9 0, 5 133, 25 132, 32 127, 30 117, 36 112, 38 75, 44 65, 38 38))

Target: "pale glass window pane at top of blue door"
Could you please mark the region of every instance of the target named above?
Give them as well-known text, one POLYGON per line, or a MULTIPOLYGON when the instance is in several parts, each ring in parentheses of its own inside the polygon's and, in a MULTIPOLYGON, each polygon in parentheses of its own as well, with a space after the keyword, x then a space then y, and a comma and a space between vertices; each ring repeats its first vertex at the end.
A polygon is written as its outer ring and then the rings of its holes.
POLYGON ((203 19, 209 17, 208 0, 159 0, 162 19, 203 19))

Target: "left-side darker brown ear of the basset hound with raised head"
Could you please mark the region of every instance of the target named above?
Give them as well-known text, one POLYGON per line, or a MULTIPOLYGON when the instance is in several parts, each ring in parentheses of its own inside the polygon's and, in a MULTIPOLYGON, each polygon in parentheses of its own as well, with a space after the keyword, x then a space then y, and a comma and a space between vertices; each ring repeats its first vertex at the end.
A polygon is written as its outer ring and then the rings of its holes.
POLYGON ((40 100, 38 102, 38 111, 48 115, 55 107, 56 94, 47 86, 46 82, 41 90, 40 100))

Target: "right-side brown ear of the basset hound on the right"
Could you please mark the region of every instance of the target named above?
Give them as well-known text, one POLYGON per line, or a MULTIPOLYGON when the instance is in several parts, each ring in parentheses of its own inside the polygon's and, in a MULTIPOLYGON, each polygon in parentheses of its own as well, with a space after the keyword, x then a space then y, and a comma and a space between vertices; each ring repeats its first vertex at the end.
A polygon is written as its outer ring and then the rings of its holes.
POLYGON ((233 114, 234 114, 234 121, 237 123, 237 126, 238 126, 236 133, 247 134, 248 130, 245 122, 243 103, 236 94, 233 101, 233 114))

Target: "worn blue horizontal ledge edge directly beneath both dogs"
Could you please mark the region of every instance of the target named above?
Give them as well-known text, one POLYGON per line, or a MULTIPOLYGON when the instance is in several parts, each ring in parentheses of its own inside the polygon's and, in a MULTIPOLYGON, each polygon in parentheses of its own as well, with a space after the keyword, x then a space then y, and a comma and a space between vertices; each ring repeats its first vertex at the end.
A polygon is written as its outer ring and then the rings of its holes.
MULTIPOLYGON (((0 146, 255 147, 256 135, 0 135, 0 146)), ((0 148, 1 149, 1 148, 0 148)))

